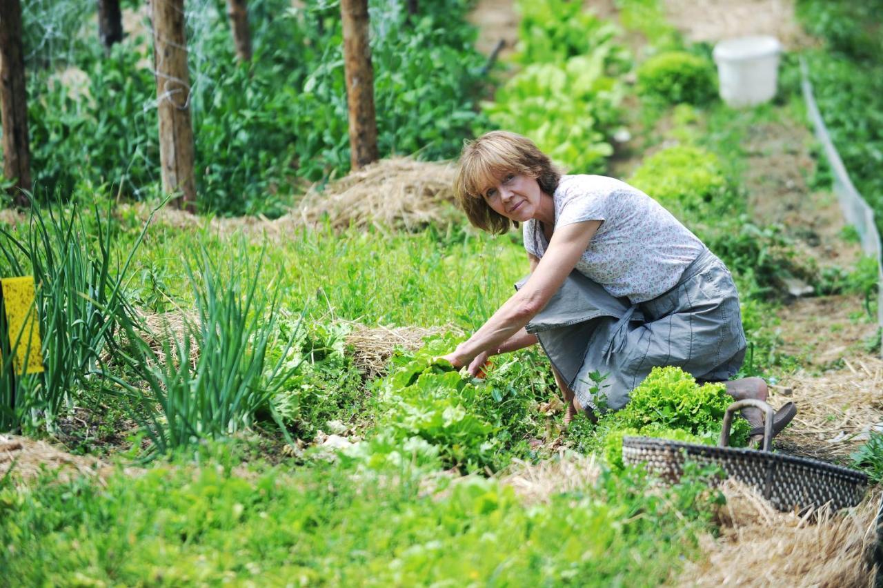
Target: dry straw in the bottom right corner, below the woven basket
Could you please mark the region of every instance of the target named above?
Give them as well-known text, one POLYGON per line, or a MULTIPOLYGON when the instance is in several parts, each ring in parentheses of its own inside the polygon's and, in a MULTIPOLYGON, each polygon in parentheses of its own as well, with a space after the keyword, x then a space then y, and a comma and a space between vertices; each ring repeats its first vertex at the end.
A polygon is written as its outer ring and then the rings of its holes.
POLYGON ((751 486, 728 480, 718 512, 721 537, 684 569, 683 586, 870 586, 879 494, 856 509, 781 513, 751 486))

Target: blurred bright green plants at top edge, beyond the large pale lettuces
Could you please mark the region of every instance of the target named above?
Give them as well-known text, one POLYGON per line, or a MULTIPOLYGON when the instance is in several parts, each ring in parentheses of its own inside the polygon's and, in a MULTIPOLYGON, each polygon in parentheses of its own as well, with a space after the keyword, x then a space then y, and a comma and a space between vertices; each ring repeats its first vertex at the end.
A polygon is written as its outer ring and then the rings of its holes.
POLYGON ((517 4, 518 52, 521 64, 561 64, 570 57, 589 55, 598 47, 612 49, 610 73, 623 72, 629 58, 616 44, 620 32, 612 23, 601 20, 583 5, 567 0, 544 0, 517 4))

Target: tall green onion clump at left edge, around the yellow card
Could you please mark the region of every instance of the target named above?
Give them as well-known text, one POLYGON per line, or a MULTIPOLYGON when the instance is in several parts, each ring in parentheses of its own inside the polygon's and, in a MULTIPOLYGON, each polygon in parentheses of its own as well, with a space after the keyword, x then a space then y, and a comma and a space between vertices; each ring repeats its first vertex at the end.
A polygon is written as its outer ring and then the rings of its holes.
MULTIPOLYGON (((6 368, 12 354, 4 354, 0 430, 51 431, 61 411, 72 406, 75 384, 87 385, 102 354, 113 349, 114 337, 131 323, 124 285, 146 230, 147 224, 128 251, 118 254, 110 223, 97 207, 91 220, 76 208, 34 207, 26 226, 0 229, 0 274, 34 276, 46 370, 11 381, 6 368)), ((9 351, 30 345, 13 336, 9 351)))

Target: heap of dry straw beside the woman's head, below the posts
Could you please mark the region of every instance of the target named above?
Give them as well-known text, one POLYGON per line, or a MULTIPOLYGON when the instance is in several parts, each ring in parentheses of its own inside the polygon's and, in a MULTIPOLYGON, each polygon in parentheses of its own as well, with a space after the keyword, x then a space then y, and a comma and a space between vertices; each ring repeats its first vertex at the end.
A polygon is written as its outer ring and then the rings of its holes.
POLYGON ((456 170, 450 163, 418 162, 394 157, 372 163, 307 193, 300 207, 306 222, 328 217, 336 229, 350 224, 418 230, 454 214, 452 185, 456 170))

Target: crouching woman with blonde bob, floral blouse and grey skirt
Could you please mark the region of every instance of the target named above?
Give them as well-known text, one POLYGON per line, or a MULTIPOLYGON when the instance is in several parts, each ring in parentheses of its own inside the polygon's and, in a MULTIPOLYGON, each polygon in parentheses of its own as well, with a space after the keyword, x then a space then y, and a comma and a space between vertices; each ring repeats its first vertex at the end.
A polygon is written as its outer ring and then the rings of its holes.
MULTIPOLYGON (((760 378, 728 381, 745 335, 728 269, 644 192, 611 177, 562 176, 512 132, 467 142, 455 181, 470 222, 492 233, 524 223, 531 275, 467 341, 445 356, 479 373, 487 358, 542 344, 568 403, 565 423, 619 409, 654 366, 726 381, 737 400, 766 400, 760 378), (590 374, 605 374, 598 385, 590 374)), ((794 417, 774 418, 778 433, 794 417)), ((758 409, 746 409, 751 434, 758 409)))

